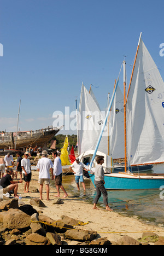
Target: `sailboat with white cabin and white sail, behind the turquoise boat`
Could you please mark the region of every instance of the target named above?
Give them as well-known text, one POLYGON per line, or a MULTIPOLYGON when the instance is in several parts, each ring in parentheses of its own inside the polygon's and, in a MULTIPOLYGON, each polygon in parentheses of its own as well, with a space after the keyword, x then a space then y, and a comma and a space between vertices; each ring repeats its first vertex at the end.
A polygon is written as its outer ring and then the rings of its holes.
MULTIPOLYGON (((97 138, 101 132, 105 117, 99 108, 99 104, 96 101, 91 88, 90 92, 87 91, 83 83, 81 86, 78 114, 77 134, 79 159, 87 166, 90 164, 93 153, 95 152, 97 138)), ((97 155, 104 156, 103 167, 106 171, 111 170, 113 167, 113 159, 107 154, 107 146, 107 136, 102 136, 101 142, 98 146, 97 155)), ((93 165, 96 165, 95 161, 93 162, 93 165)))

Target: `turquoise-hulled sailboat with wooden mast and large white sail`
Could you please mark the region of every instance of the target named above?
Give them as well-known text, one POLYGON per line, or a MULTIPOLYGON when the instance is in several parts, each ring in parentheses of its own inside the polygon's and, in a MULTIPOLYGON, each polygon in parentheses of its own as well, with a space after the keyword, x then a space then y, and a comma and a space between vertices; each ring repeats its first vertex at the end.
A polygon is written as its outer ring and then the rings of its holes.
MULTIPOLYGON (((138 164, 143 162, 157 164, 163 162, 164 159, 164 120, 159 111, 163 110, 164 103, 161 92, 163 92, 164 83, 141 39, 141 34, 127 95, 126 62, 123 63, 125 172, 105 174, 104 186, 106 189, 118 190, 159 189, 164 185, 164 174, 133 174, 127 171, 126 166, 127 158, 130 164, 135 164, 136 161, 138 164)), ((90 170, 100 140, 101 135, 90 163, 90 170)), ((94 179, 94 174, 91 174, 93 184, 94 179)))

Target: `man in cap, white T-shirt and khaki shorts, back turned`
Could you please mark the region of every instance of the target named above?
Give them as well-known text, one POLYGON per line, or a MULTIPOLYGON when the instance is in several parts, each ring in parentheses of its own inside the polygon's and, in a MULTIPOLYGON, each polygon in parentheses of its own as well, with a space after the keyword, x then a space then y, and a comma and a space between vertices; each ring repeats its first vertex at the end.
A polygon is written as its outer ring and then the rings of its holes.
POLYGON ((53 174, 53 163, 51 159, 49 159, 48 152, 46 150, 43 150, 42 152, 43 158, 39 159, 37 168, 39 171, 39 183, 40 183, 40 200, 43 199, 42 197, 42 192, 43 192, 43 184, 45 183, 46 186, 46 200, 50 201, 49 199, 49 193, 50 193, 50 171, 52 174, 52 180, 54 179, 54 174, 53 174))

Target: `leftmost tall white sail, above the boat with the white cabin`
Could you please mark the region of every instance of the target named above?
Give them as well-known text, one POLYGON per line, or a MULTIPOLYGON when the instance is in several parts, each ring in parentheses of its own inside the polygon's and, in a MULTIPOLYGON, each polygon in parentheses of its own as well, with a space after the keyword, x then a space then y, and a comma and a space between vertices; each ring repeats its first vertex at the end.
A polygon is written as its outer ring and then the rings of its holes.
MULTIPOLYGON (((78 118, 79 154, 95 149, 104 121, 104 115, 92 96, 82 85, 78 118)), ((107 136, 102 138, 98 150, 107 154, 107 136)))

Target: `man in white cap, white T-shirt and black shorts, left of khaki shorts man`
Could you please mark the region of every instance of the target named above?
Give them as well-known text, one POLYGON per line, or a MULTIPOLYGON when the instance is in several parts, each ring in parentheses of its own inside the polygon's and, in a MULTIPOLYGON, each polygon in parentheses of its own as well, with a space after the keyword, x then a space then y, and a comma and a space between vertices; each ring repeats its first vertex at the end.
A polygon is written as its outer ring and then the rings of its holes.
POLYGON ((21 167, 22 167, 22 173, 24 174, 24 181, 25 181, 25 193, 29 193, 29 187, 31 182, 31 164, 30 159, 28 159, 28 152, 24 154, 24 158, 21 160, 21 167))

